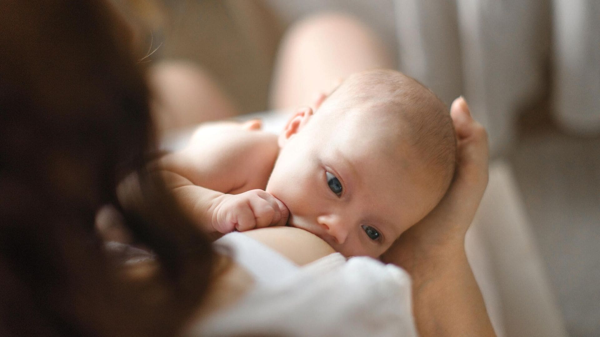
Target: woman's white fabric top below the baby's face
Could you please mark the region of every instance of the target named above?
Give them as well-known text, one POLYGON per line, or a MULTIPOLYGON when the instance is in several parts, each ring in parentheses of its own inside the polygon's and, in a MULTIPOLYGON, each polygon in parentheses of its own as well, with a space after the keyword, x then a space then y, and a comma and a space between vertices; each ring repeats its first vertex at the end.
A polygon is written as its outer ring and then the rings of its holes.
POLYGON ((334 253, 298 267, 241 233, 217 244, 229 246, 257 284, 232 308, 188 330, 189 336, 417 335, 410 278, 396 266, 334 253), (258 251, 247 250, 252 247, 258 251))

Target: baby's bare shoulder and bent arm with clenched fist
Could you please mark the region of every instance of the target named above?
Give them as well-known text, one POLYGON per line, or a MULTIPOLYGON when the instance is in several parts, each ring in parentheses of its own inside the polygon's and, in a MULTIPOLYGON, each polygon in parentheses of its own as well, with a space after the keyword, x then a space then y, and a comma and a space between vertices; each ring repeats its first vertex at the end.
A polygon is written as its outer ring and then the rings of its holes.
POLYGON ((277 157, 277 136, 250 128, 248 124, 200 127, 186 148, 149 164, 205 231, 228 233, 286 221, 283 203, 258 189, 265 187, 277 157))

